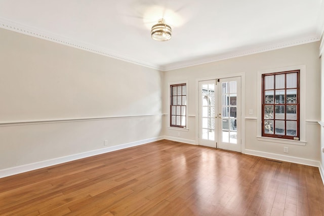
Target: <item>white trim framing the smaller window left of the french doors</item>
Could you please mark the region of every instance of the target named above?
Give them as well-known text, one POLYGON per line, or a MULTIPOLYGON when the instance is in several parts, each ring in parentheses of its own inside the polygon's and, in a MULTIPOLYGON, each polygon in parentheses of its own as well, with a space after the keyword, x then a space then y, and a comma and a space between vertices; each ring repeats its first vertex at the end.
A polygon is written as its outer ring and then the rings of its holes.
POLYGON ((189 80, 184 80, 184 81, 176 81, 176 82, 169 82, 168 83, 168 126, 167 128, 168 129, 174 129, 174 130, 177 130, 177 131, 189 131, 189 122, 188 122, 188 105, 189 105, 189 80), (171 112, 170 112, 170 96, 171 96, 171 92, 170 92, 170 86, 171 85, 177 85, 177 84, 186 84, 186 98, 187 98, 187 104, 186 104, 186 128, 183 128, 183 127, 174 127, 174 126, 171 126, 171 122, 170 122, 170 116, 171 116, 171 112))

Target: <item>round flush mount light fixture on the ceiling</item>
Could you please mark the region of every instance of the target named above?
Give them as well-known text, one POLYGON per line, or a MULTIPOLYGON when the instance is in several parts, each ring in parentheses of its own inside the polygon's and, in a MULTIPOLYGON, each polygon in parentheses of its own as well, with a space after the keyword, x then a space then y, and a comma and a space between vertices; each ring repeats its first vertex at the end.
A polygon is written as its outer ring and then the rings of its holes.
POLYGON ((164 19, 159 19, 157 24, 152 26, 151 36, 157 41, 167 41, 171 39, 172 29, 164 19))

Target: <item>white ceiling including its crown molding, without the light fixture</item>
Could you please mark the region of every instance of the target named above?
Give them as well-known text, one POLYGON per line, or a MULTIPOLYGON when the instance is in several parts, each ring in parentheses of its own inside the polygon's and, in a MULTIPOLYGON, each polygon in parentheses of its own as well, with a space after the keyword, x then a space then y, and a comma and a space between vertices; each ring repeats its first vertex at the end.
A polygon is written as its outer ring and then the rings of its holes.
POLYGON ((0 27, 172 70, 320 40, 324 0, 0 0, 0 27), (165 18, 172 39, 150 27, 165 18))

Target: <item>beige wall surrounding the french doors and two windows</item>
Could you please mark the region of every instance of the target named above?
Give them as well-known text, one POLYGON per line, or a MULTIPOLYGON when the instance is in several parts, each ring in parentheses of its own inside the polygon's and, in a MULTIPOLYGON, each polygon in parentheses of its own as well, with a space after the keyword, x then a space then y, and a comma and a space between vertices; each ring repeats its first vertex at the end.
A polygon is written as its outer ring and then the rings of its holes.
MULTIPOLYGON (((196 116, 196 91, 197 80, 209 79, 210 77, 226 77, 232 74, 244 74, 245 80, 242 82, 242 88, 245 91, 245 98, 242 101, 245 112, 242 113, 242 120, 245 121, 245 148, 242 152, 269 153, 272 156, 283 155, 288 157, 298 157, 306 160, 318 161, 320 157, 320 126, 317 121, 320 119, 320 61, 318 58, 319 42, 310 44, 284 48, 244 57, 217 61, 208 64, 196 65, 188 68, 182 68, 165 72, 164 92, 167 93, 169 84, 182 80, 189 81, 189 122, 188 131, 181 131, 178 137, 177 130, 168 127, 169 115, 164 116, 164 134, 174 140, 184 140, 197 144, 197 121, 196 116), (257 98, 257 78, 258 71, 271 70, 296 65, 306 65, 306 145, 287 145, 272 142, 264 142, 257 140, 257 120, 258 106, 260 106, 257 98), (244 83, 245 82, 245 83, 244 83), (249 110, 254 111, 253 115, 249 115, 249 110), (246 119, 245 119, 246 118, 246 119), (284 146, 289 147, 289 154, 283 152, 284 146)), ((164 101, 169 98, 164 94, 164 101)), ((163 112, 169 113, 167 103, 163 106, 163 112)))

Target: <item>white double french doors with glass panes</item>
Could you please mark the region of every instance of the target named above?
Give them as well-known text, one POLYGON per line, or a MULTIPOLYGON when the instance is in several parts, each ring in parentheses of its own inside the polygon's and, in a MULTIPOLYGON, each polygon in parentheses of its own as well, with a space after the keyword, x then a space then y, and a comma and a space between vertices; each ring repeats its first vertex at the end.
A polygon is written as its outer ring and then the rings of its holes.
POLYGON ((240 77, 199 81, 199 145, 241 152, 240 77))

